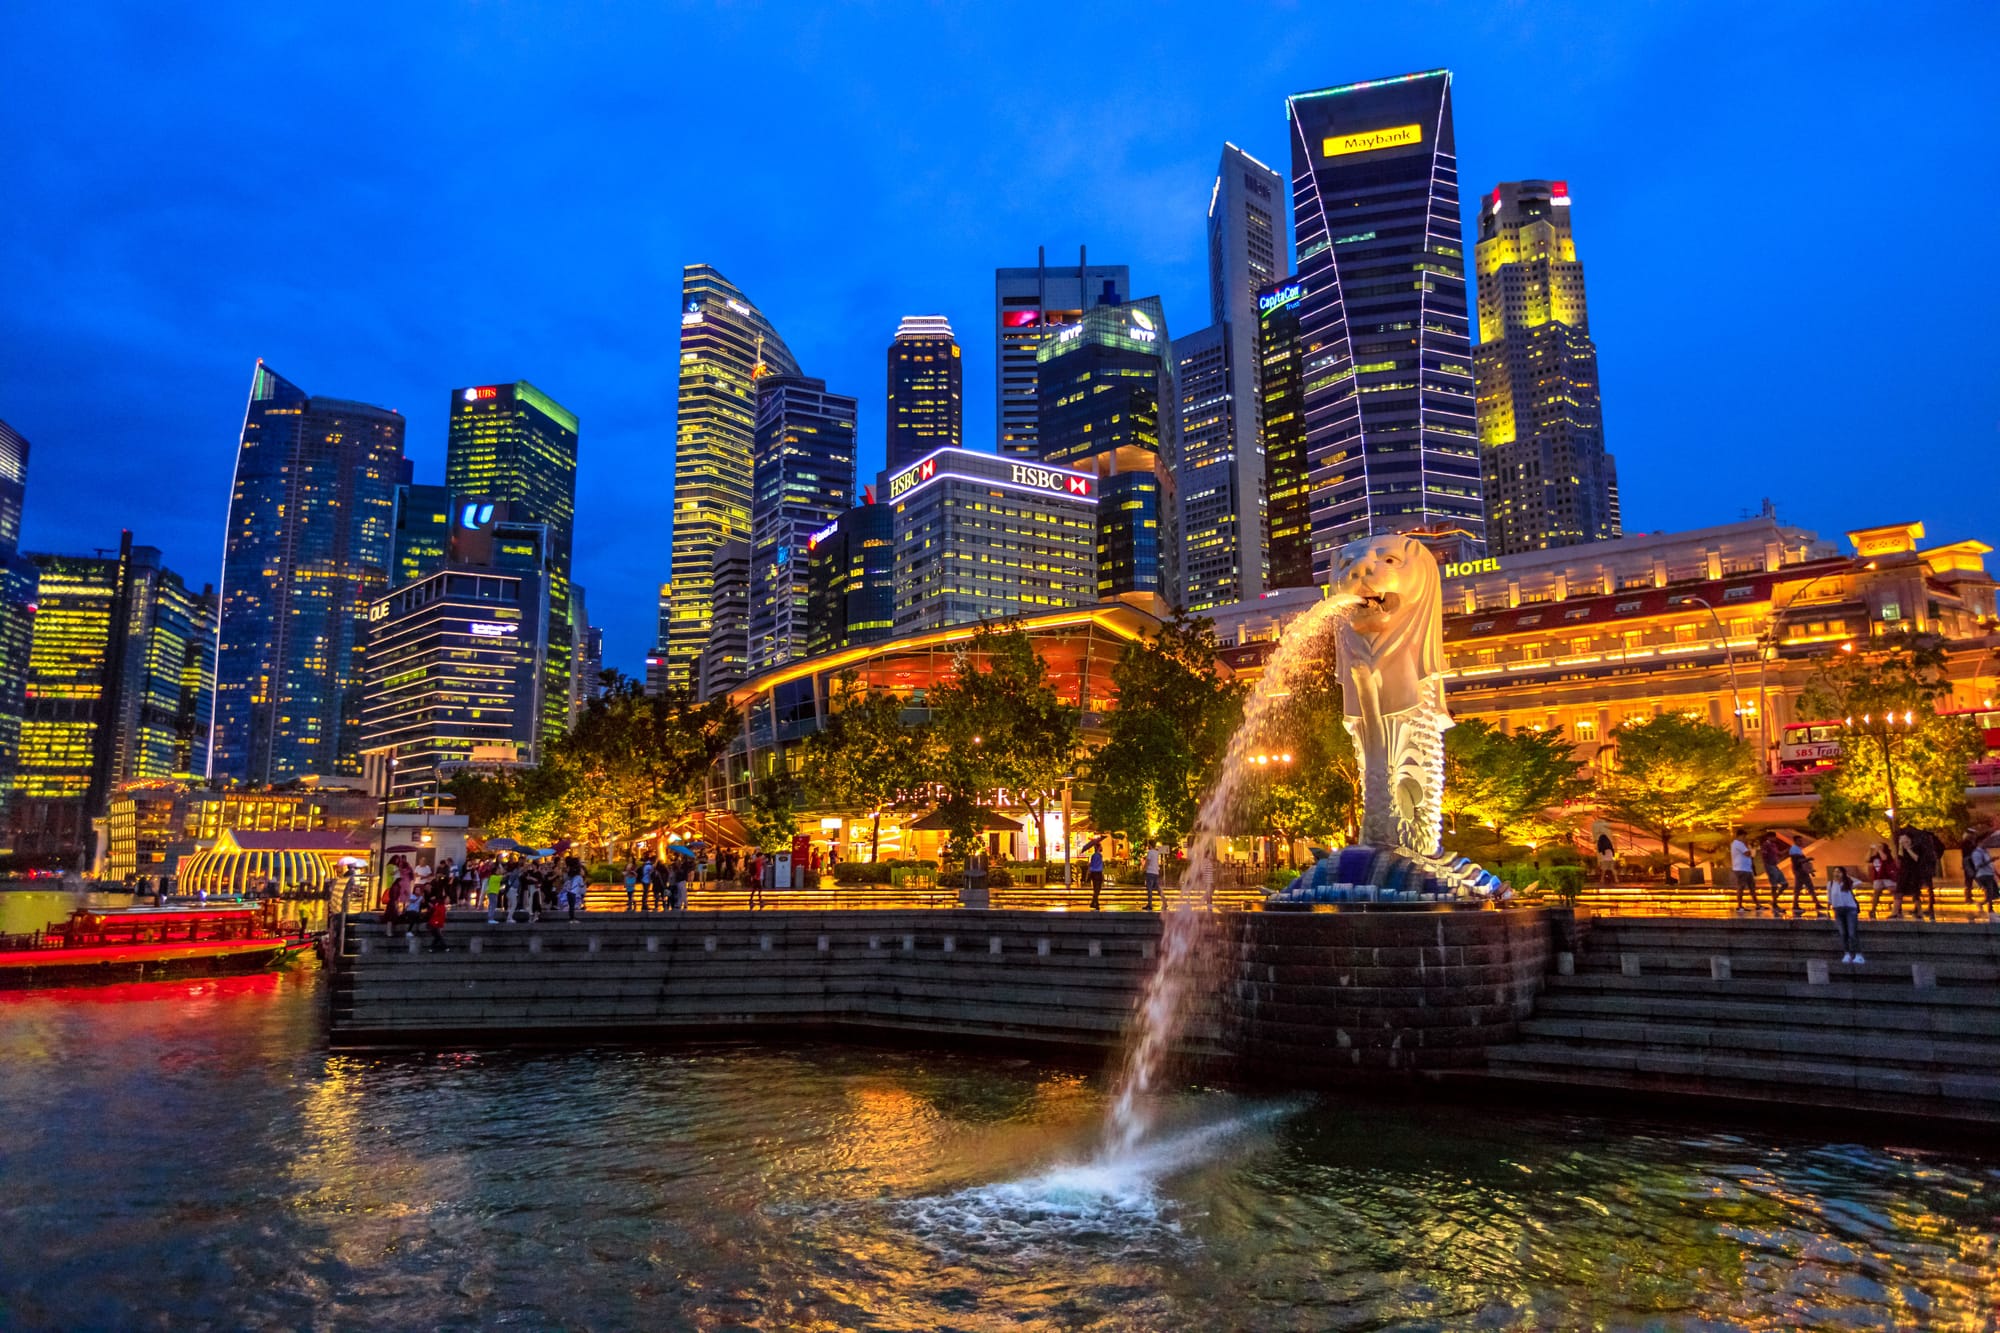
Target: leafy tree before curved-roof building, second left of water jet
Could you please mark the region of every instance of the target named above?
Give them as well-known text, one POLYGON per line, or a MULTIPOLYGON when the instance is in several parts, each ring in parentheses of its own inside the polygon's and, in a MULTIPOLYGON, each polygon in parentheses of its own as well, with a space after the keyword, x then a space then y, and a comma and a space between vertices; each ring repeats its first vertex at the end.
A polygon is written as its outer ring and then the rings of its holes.
POLYGON ((930 691, 928 769, 944 787, 940 813, 968 849, 982 823, 972 813, 996 787, 1022 793, 1034 811, 1040 859, 1048 793, 1076 759, 1078 709, 1048 685, 1048 664, 1018 626, 980 626, 958 648, 952 679, 930 691))

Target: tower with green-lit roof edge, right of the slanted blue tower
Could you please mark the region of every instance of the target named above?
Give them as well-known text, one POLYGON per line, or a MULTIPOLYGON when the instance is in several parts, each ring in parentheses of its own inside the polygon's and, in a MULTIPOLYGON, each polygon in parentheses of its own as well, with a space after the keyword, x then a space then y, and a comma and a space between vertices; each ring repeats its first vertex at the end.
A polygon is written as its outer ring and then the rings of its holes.
POLYGON ((548 681, 540 695, 546 741, 570 727, 576 438, 576 414, 528 380, 452 390, 444 486, 460 500, 504 502, 512 522, 548 524, 548 681))

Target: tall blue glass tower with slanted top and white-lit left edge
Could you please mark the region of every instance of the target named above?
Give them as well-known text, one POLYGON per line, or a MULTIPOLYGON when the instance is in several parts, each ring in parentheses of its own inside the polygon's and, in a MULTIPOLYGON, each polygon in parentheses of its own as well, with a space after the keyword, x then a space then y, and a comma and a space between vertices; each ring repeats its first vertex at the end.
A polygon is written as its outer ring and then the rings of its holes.
POLYGON ((358 775, 368 602, 394 558, 400 412, 316 398, 262 360, 230 526, 210 775, 358 775))

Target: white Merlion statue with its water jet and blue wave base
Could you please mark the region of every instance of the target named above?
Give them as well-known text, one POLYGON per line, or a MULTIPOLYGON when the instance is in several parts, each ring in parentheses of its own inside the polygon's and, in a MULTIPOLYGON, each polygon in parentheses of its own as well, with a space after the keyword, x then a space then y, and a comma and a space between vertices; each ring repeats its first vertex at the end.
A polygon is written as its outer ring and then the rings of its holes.
POLYGON ((1104 1149, 1130 1153, 1152 1123, 1150 1097, 1192 1003, 1196 955, 1214 915, 1214 845, 1222 837, 1250 747, 1264 741, 1274 701, 1292 675, 1322 660, 1332 636, 1344 727, 1354 739, 1362 789, 1362 837, 1322 857, 1278 907, 1398 903, 1486 893, 1494 881, 1440 849, 1444 795, 1444 598, 1438 562, 1414 536, 1368 536, 1344 546, 1326 598, 1286 626, 1262 679, 1244 703, 1222 773, 1202 801, 1188 843, 1180 893, 1164 913, 1160 957, 1126 1037, 1104 1149))

